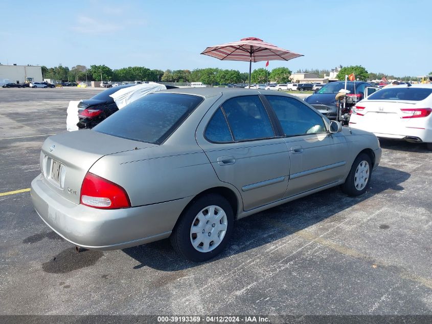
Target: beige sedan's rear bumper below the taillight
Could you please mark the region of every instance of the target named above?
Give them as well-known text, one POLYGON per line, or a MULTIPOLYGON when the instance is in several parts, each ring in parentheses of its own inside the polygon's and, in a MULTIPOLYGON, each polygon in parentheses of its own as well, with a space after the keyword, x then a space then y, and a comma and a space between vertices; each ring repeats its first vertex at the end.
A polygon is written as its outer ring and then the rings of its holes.
POLYGON ((162 240, 171 234, 189 199, 124 209, 97 209, 59 196, 41 175, 31 184, 40 218, 65 240, 87 249, 115 250, 162 240))

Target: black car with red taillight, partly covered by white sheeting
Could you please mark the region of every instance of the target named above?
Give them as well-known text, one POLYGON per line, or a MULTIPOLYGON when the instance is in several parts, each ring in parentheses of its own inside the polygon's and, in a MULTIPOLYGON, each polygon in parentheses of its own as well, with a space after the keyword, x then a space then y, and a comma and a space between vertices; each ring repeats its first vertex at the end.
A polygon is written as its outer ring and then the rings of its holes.
MULTIPOLYGON (((108 88, 96 96, 82 100, 78 104, 78 128, 93 128, 102 120, 117 112, 119 108, 116 102, 109 95, 119 91, 123 88, 134 87, 137 84, 124 84, 117 87, 108 88)), ((166 85, 167 89, 174 89, 172 85, 166 85)))

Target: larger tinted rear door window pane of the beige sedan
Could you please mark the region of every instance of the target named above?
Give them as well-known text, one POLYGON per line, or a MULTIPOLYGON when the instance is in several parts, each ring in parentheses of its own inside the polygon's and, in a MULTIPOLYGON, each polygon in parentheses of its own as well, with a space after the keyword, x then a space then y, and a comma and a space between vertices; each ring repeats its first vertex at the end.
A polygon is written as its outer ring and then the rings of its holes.
POLYGON ((274 137, 270 119, 258 96, 236 97, 222 104, 234 140, 253 140, 274 137))

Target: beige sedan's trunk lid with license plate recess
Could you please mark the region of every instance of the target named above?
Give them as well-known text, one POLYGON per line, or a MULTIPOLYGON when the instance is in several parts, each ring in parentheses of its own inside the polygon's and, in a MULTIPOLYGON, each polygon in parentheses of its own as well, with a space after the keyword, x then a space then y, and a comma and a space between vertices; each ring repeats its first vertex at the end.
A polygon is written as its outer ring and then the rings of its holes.
POLYGON ((43 179, 60 196, 79 204, 82 181, 96 161, 105 155, 153 146, 157 145, 90 129, 54 135, 42 144, 40 166, 43 179))

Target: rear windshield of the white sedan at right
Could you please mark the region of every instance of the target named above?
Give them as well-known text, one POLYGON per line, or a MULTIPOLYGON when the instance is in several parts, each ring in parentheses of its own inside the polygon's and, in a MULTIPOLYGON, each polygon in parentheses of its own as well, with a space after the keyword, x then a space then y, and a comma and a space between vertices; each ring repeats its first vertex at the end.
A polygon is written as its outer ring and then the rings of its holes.
POLYGON ((421 101, 432 93, 432 89, 425 88, 386 88, 374 92, 368 100, 411 100, 421 101))

